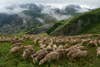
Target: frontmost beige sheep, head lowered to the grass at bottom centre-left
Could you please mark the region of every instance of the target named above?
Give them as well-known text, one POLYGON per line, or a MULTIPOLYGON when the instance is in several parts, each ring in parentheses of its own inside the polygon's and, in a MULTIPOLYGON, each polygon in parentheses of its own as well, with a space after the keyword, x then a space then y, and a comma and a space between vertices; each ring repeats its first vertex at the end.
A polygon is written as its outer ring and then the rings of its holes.
POLYGON ((65 49, 58 49, 58 50, 52 51, 48 53, 43 59, 40 60, 39 65, 42 65, 46 62, 50 62, 53 60, 59 60, 60 58, 64 57, 65 54, 66 54, 65 49))

